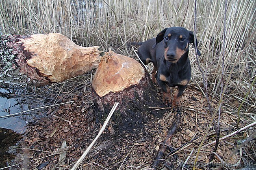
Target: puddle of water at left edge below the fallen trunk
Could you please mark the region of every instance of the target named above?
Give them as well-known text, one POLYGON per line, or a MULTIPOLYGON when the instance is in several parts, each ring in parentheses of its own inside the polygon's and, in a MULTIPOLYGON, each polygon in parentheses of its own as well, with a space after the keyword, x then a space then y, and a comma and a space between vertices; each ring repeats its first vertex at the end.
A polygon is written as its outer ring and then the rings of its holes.
POLYGON ((25 89, 0 88, 0 168, 12 163, 16 150, 10 147, 18 145, 17 142, 26 130, 26 124, 38 118, 42 111, 27 111, 40 107, 39 102, 35 104, 32 98, 33 95, 28 95, 25 89))

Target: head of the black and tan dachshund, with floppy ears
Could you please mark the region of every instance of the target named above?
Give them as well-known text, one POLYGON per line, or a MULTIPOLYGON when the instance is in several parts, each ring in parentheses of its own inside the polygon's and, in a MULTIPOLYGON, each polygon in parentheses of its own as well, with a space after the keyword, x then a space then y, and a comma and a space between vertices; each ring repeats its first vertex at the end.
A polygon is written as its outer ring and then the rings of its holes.
MULTIPOLYGON (((169 62, 177 62, 189 50, 189 43, 195 45, 193 32, 182 27, 165 28, 156 36, 156 44, 162 40, 165 47, 165 60, 169 62)), ((155 48, 156 44, 152 48, 155 48)), ((201 55, 198 49, 197 55, 201 55)))

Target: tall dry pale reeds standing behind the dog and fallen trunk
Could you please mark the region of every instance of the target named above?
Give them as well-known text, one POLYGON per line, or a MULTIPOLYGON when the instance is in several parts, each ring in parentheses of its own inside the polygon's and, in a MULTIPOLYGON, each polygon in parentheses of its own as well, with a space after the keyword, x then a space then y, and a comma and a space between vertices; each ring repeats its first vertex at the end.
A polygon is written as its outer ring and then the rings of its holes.
MULTIPOLYGON (((136 57, 128 42, 147 40, 171 26, 193 30, 193 3, 192 0, 2 0, 0 34, 57 32, 84 47, 98 45, 103 51, 112 49, 136 57)), ((240 110, 244 120, 256 113, 255 85, 252 84, 256 77, 255 10, 254 0, 228 1, 222 112, 236 114, 244 101, 240 110)), ((200 65, 206 73, 211 100, 219 100, 220 96, 223 16, 224 1, 197 0, 200 65)), ((203 89, 193 53, 191 50, 191 83, 203 89)), ((87 74, 86 78, 91 77, 87 74)), ((71 86, 74 86, 73 80, 54 88, 57 93, 71 93, 75 89, 71 86)), ((79 82, 77 86, 83 88, 79 82)))

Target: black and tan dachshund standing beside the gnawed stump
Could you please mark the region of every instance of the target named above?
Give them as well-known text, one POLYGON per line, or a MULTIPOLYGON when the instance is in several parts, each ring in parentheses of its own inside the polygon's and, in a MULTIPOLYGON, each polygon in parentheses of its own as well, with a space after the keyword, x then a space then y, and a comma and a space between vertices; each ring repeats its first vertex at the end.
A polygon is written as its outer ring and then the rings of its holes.
MULTIPOLYGON (((163 102, 167 106, 180 106, 180 96, 191 77, 189 61, 189 43, 194 43, 194 34, 182 27, 165 28, 156 38, 146 40, 138 50, 143 64, 153 63, 152 81, 163 89, 163 102), (168 88, 178 86, 171 103, 171 91, 168 88)), ((197 55, 201 55, 197 49, 197 55)))

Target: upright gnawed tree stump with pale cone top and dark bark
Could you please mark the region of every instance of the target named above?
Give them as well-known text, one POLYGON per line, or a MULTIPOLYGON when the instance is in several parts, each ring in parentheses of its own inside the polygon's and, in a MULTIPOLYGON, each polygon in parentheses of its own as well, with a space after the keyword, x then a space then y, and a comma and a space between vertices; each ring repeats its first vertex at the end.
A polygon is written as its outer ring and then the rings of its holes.
POLYGON ((162 117, 164 107, 156 88, 141 64, 110 51, 105 53, 92 81, 92 96, 98 120, 105 120, 113 104, 119 105, 112 116, 112 127, 119 131, 141 129, 144 123, 162 117))

